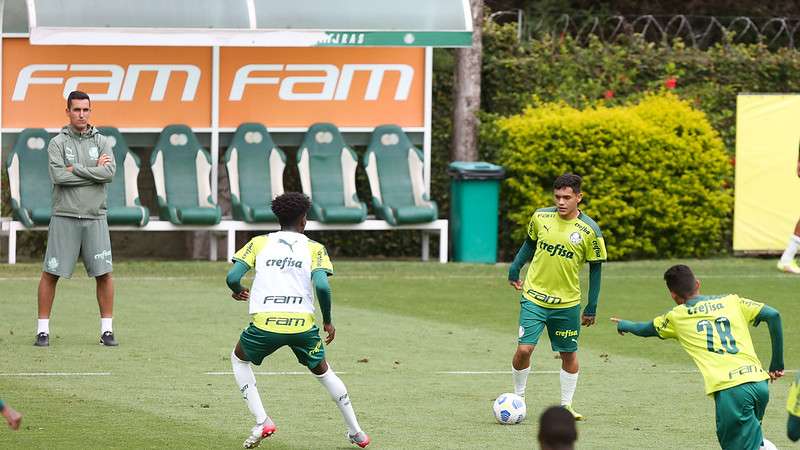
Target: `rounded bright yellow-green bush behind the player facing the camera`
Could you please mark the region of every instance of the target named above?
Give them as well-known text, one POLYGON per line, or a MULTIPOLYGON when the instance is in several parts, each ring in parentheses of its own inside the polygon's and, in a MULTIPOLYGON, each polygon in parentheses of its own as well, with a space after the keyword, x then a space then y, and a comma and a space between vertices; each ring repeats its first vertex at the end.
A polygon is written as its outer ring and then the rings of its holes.
POLYGON ((582 209, 604 230, 611 259, 708 256, 723 251, 731 166, 705 114, 671 94, 630 106, 528 107, 484 129, 506 167, 503 198, 519 243, 552 183, 583 176, 582 209))

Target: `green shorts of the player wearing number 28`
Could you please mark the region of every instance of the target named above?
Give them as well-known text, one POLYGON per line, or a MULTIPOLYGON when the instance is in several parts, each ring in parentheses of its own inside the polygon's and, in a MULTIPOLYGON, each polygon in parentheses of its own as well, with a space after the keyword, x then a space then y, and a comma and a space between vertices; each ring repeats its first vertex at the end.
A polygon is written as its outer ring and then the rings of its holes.
POLYGON ((757 450, 764 435, 761 419, 769 403, 767 381, 744 383, 714 392, 717 439, 723 450, 757 450))

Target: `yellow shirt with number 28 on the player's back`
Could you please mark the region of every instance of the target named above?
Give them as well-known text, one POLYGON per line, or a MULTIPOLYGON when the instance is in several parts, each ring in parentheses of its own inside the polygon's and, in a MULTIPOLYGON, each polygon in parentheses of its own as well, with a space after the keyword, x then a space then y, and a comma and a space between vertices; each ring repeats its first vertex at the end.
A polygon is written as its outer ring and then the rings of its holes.
POLYGON ((653 321, 662 338, 678 340, 705 380, 707 394, 769 376, 756 356, 749 326, 763 307, 738 295, 698 296, 653 321))

